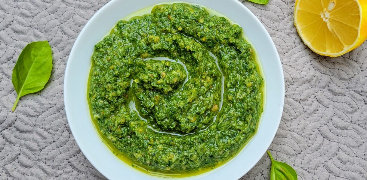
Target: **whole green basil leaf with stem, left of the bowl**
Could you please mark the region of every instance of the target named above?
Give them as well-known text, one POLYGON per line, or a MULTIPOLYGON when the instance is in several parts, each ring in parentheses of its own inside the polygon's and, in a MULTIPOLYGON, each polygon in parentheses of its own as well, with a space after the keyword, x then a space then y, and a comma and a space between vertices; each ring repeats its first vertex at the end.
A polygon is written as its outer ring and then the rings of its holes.
POLYGON ((44 88, 52 70, 52 51, 47 41, 32 42, 25 46, 14 66, 12 83, 18 93, 12 111, 19 98, 44 88))

